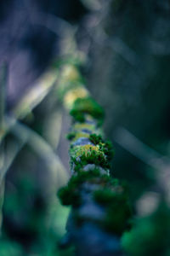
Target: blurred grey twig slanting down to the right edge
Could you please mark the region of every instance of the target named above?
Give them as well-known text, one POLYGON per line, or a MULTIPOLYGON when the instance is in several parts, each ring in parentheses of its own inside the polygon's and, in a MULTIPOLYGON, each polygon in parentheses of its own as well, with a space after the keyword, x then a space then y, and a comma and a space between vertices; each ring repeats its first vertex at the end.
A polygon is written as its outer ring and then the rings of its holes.
POLYGON ((144 164, 156 170, 156 183, 164 191, 167 201, 170 202, 170 159, 142 143, 123 127, 119 127, 114 132, 113 139, 122 148, 142 160, 144 164))

